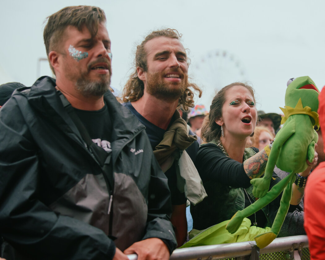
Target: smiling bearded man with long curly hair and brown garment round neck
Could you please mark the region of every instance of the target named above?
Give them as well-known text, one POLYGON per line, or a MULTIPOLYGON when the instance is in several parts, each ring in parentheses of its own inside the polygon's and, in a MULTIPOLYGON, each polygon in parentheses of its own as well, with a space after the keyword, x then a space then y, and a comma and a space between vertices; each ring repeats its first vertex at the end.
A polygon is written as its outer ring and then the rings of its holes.
MULTIPOLYGON (((182 176, 182 167, 178 158, 188 153, 185 172, 190 169, 197 173, 191 161, 195 161, 199 144, 177 109, 181 105, 186 110, 194 107, 194 91, 201 97, 200 88, 188 82, 188 58, 180 37, 172 29, 151 32, 137 46, 136 68, 123 90, 126 102, 123 105, 146 126, 155 157, 168 178, 173 206, 171 221, 178 246, 187 238, 187 199, 196 204, 205 197, 204 189, 198 187, 196 191, 201 192, 194 194, 196 198, 191 200, 186 194, 189 186, 179 185, 178 173, 182 176)), ((198 184, 200 181, 199 178, 198 184)))

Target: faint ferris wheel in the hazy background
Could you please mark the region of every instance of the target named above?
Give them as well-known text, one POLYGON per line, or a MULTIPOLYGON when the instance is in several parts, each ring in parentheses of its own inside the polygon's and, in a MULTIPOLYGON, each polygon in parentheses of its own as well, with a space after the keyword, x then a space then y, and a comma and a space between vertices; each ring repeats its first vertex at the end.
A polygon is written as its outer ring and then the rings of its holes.
POLYGON ((211 104, 215 93, 224 86, 247 80, 243 63, 223 49, 209 51, 193 64, 193 68, 194 79, 203 89, 200 102, 205 104, 211 104))

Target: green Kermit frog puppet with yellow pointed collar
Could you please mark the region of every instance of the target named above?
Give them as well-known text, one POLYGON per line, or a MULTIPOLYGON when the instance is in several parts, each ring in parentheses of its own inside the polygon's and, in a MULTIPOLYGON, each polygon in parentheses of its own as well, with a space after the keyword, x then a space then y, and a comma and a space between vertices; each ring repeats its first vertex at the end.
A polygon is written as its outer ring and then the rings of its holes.
MULTIPOLYGON (((270 232, 256 236, 254 239, 259 248, 266 247, 279 234, 284 218, 288 212, 292 195, 292 184, 296 182, 303 187, 305 179, 301 179, 297 173, 307 169, 315 154, 315 143, 318 141, 314 125, 318 123, 318 95, 319 90, 315 83, 308 77, 290 79, 285 93, 285 108, 280 108, 284 117, 283 127, 277 133, 266 164, 264 177, 251 180, 253 195, 259 198, 252 205, 236 212, 226 226, 230 233, 236 232, 244 217, 250 216, 273 201, 283 191, 280 207, 274 219, 270 232), (277 183, 269 191, 270 180, 274 166, 290 174, 277 183)), ((268 149, 268 151, 267 151, 268 149)))

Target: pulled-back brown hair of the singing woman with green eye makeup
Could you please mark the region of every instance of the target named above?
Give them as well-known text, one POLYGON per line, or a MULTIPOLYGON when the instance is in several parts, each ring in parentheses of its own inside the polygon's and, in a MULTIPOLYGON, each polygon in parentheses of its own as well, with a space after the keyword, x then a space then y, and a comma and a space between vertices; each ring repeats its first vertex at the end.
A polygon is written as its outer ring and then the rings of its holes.
POLYGON ((222 117, 222 106, 225 103, 226 91, 233 86, 243 86, 251 92, 255 102, 255 91, 248 83, 234 82, 223 87, 213 98, 210 106, 209 115, 205 116, 201 130, 201 138, 204 142, 211 142, 214 139, 220 139, 221 126, 214 122, 215 119, 222 117))

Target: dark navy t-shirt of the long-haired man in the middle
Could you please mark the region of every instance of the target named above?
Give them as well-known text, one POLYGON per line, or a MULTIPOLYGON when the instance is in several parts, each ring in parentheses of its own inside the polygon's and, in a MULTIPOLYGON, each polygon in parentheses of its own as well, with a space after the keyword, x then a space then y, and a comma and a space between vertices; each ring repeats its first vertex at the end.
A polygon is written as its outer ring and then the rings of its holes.
MULTIPOLYGON (((155 147, 161 142, 164 133, 167 131, 165 129, 162 129, 153 123, 149 122, 147 119, 145 119, 141 114, 139 114, 135 108, 131 105, 131 102, 123 103, 123 106, 127 107, 132 114, 136 116, 136 118, 144 124, 146 127, 146 133, 149 137, 150 144, 152 150, 155 150, 155 147)), ((170 125, 173 122, 170 122, 170 125)), ((169 126, 167 127, 167 129, 169 126)), ((190 135, 194 135, 191 131, 189 131, 190 135)), ((199 150, 199 144, 198 142, 194 142, 191 144, 187 149, 186 152, 188 153, 189 157, 192 159, 193 162, 195 162, 196 153, 199 150)), ((176 162, 174 162, 176 163, 176 162)), ((168 178, 168 186, 171 192, 171 200, 173 205, 181 205, 186 203, 186 197, 185 193, 181 193, 177 188, 177 179, 176 179, 176 170, 174 165, 170 167, 165 172, 166 177, 168 178)))

